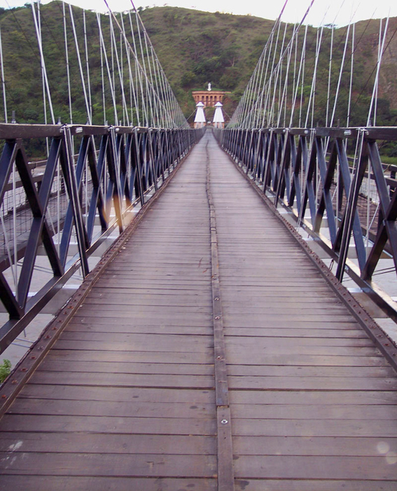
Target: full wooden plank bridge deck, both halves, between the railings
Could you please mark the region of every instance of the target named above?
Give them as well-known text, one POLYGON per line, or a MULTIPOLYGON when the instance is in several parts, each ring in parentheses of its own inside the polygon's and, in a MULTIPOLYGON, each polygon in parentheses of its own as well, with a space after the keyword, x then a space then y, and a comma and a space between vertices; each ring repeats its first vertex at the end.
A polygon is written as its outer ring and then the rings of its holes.
POLYGON ((0 489, 396 490, 396 389, 207 133, 1 419, 0 489))

